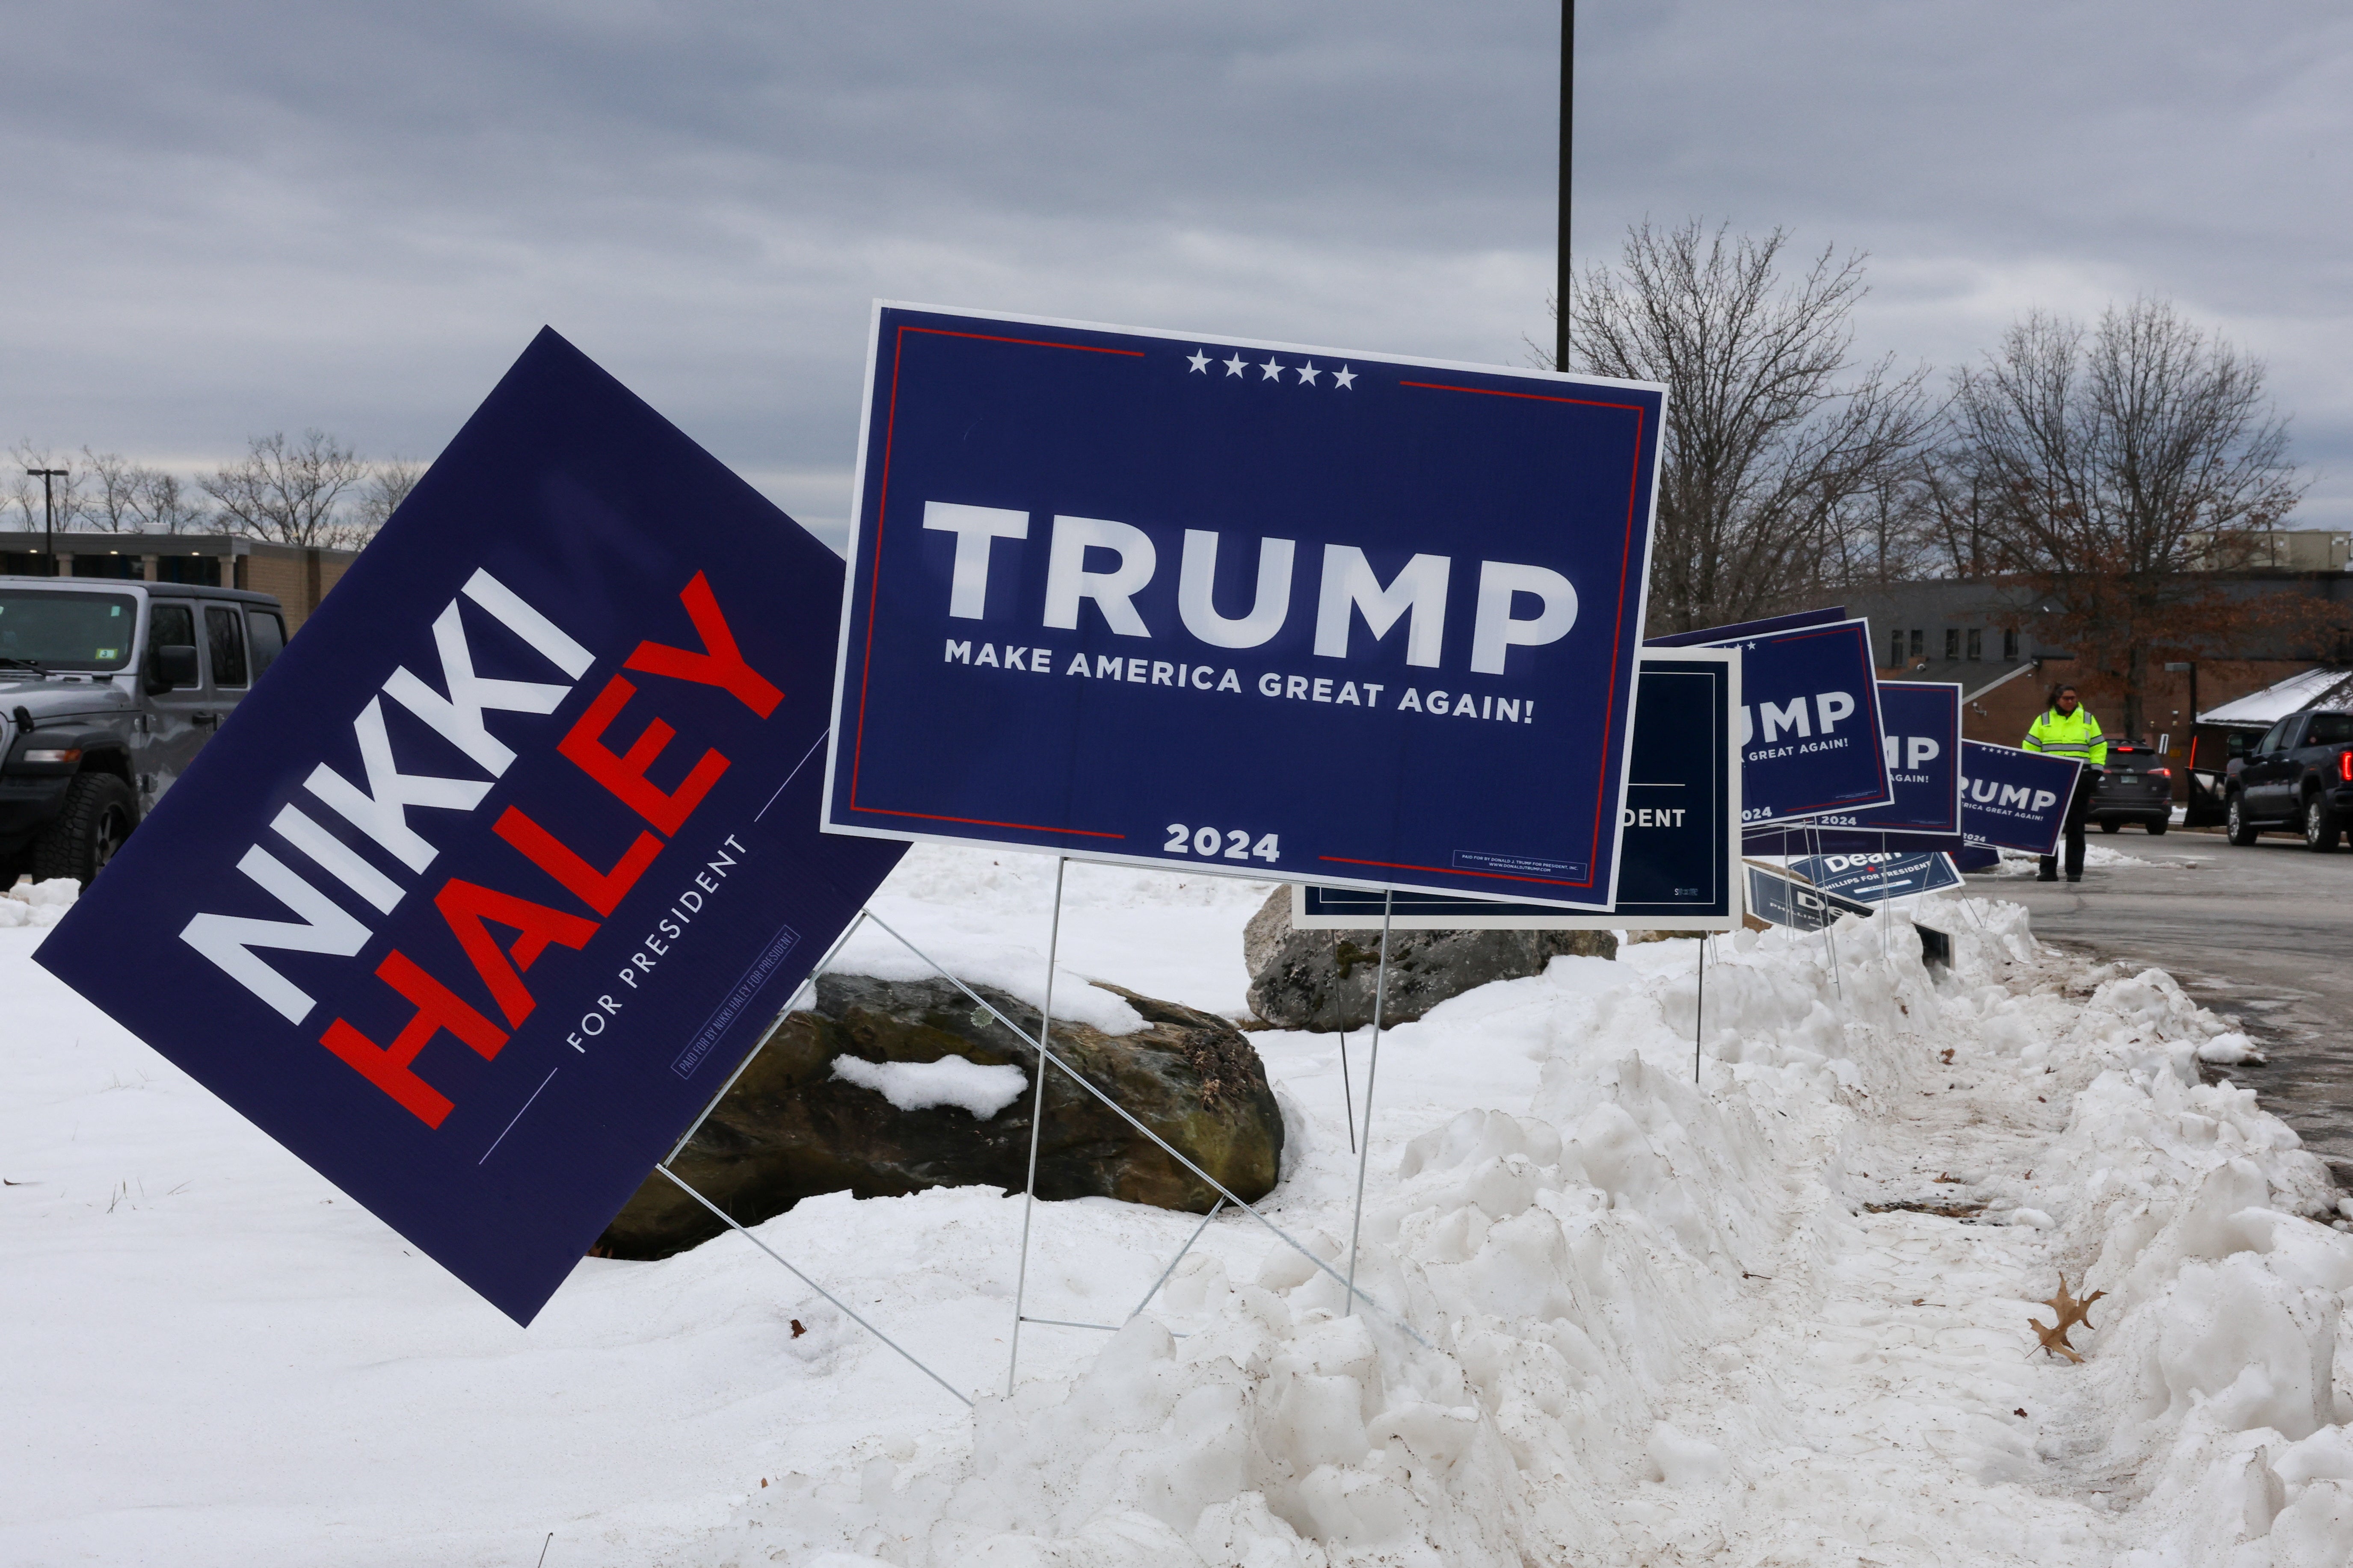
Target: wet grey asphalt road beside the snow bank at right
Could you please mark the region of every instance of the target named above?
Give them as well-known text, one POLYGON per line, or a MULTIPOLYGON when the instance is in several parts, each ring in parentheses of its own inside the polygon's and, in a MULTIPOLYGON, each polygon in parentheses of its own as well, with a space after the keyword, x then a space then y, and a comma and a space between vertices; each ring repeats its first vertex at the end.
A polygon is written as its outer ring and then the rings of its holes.
POLYGON ((2287 835, 2233 849, 2184 827, 2094 827, 2092 846, 2137 865, 2087 865, 2073 886, 1979 875, 1969 889, 2024 903, 2049 943, 2155 964, 2235 1018, 2271 1060, 2207 1072, 2254 1088, 2353 1187, 2353 851, 2315 856, 2287 835))

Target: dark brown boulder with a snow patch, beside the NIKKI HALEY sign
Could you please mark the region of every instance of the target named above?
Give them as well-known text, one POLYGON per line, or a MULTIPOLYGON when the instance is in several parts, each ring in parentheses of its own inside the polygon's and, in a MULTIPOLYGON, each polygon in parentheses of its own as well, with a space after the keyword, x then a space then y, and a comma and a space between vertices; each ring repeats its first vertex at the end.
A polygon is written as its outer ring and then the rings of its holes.
MULTIPOLYGON (((974 990, 1038 1032, 1038 1009, 988 985, 974 990)), ((1118 985, 1104 990, 1125 997, 1146 1027, 1104 1034, 1056 1018, 1052 1051, 1238 1197, 1257 1201, 1271 1192, 1282 1171, 1282 1112, 1249 1039, 1212 1013, 1118 985)), ((1028 1046, 948 980, 824 976, 814 1009, 776 1025, 671 1168, 744 1225, 819 1192, 894 1197, 965 1185, 1019 1192, 1035 1095, 1031 1060, 1028 1046), (948 1058, 965 1065, 929 1074, 882 1067, 948 1058), (922 1084, 932 1084, 932 1098, 948 1093, 965 1105, 899 1110, 885 1098, 920 1103, 922 1084)), ((1217 1201, 1207 1182, 1061 1070, 1047 1072, 1038 1197, 1111 1197, 1191 1213, 1217 1201)), ((598 1253, 668 1258, 720 1229, 711 1211, 656 1171, 607 1227, 598 1253)))

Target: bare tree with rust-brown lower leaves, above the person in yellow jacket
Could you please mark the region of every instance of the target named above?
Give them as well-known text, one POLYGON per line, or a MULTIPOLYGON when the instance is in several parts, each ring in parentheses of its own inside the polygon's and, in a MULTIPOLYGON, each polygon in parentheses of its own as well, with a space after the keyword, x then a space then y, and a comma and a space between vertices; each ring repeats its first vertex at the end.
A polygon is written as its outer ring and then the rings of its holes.
POLYGON ((2125 733, 2158 661, 2294 630, 2297 607, 2207 576, 2245 567, 2301 498, 2287 423, 2264 364, 2167 301, 2111 306, 2089 331, 2026 317, 1958 374, 1953 423, 1995 569, 2059 607, 2054 632, 2122 698, 2125 733))

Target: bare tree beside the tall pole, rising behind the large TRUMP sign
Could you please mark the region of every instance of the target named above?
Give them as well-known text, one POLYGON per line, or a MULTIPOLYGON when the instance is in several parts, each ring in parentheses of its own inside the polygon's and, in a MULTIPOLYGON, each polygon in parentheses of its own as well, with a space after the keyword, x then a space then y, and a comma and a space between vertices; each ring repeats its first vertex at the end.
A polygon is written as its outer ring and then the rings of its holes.
MULTIPOLYGON (((1762 237, 1626 235, 1619 268, 1588 268, 1572 301, 1581 369, 1664 381, 1666 451, 1649 576, 1649 625, 1680 632, 1748 621, 1831 590, 1871 534, 1904 508, 1901 473, 1934 409, 1925 369, 1854 367, 1849 315, 1861 256, 1824 249, 1784 280, 1784 230, 1762 237)), ((1897 555, 1866 548, 1871 571, 1897 555)))

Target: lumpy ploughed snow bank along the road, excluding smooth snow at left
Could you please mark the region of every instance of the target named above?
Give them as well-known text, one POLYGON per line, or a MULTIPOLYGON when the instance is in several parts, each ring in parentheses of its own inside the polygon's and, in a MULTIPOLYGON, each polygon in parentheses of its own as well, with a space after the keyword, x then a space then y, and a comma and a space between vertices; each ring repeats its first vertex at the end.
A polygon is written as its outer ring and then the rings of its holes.
POLYGON ((969 1450, 781 1476, 736 1561, 2348 1561, 2320 1161, 2198 1081, 2224 1030, 2167 976, 2066 973, 2024 910, 1937 900, 1939 978, 1889 919, 1835 966, 1715 943, 1701 1084, 1687 940, 1398 1030, 1539 1065, 1381 1159, 1360 1284, 1398 1316, 1280 1246, 1188 1258, 1075 1378, 984 1396, 969 1450), (2061 1274, 2106 1293, 2087 1359, 2031 1363, 2061 1274))

